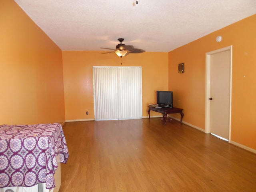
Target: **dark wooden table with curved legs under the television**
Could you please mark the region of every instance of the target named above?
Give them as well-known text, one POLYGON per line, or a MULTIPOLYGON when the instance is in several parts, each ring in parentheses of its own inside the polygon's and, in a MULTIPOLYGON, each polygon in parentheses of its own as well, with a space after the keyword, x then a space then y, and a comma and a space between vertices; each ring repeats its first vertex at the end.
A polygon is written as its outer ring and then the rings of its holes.
POLYGON ((158 112, 158 113, 162 113, 164 115, 164 124, 166 124, 166 117, 167 114, 172 114, 172 113, 180 113, 180 123, 182 123, 182 118, 184 116, 184 114, 182 113, 183 109, 180 108, 169 108, 169 107, 162 107, 162 108, 156 108, 156 107, 148 107, 148 116, 150 118, 150 110, 158 112))

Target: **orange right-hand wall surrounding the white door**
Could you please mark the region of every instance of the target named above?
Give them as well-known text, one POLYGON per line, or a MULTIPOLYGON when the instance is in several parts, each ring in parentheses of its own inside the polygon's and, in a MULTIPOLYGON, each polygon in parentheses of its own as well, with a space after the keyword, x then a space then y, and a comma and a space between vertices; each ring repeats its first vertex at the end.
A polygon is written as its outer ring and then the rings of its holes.
POLYGON ((205 54, 233 46, 231 140, 256 149, 256 15, 169 52, 169 90, 184 121, 204 129, 205 54), (216 42, 221 35, 222 41, 216 42), (178 64, 184 62, 184 74, 178 64))

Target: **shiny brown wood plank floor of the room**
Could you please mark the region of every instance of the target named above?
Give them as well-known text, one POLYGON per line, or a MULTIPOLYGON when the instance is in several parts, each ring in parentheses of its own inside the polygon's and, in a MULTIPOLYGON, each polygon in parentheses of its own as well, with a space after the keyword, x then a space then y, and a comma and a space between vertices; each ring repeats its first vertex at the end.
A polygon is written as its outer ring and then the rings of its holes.
POLYGON ((160 118, 68 122, 59 192, 256 192, 256 155, 160 118))

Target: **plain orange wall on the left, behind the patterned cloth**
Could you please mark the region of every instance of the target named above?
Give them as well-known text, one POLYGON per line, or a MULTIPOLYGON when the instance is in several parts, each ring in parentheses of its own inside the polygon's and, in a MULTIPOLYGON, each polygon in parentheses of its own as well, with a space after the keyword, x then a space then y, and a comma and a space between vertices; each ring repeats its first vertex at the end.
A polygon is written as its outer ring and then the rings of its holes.
POLYGON ((0 124, 64 122, 62 51, 13 0, 0 15, 0 124))

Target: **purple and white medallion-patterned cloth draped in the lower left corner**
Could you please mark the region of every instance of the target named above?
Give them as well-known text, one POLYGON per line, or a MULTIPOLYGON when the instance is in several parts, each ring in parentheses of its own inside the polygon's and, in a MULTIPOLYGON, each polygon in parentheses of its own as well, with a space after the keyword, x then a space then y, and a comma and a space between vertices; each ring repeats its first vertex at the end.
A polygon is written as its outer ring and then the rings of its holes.
POLYGON ((38 183, 54 188, 58 154, 66 163, 68 147, 59 123, 0 125, 0 188, 38 183))

